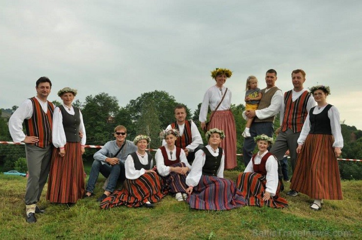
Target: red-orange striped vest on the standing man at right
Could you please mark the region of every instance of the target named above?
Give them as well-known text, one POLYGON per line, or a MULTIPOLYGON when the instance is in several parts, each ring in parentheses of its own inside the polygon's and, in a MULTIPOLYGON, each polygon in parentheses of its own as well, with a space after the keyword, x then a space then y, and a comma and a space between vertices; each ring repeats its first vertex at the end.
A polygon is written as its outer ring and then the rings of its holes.
POLYGON ((303 127, 305 118, 308 115, 307 104, 311 97, 308 91, 304 91, 295 101, 292 100, 293 90, 284 93, 284 118, 281 124, 282 131, 288 128, 294 133, 300 132, 303 127))

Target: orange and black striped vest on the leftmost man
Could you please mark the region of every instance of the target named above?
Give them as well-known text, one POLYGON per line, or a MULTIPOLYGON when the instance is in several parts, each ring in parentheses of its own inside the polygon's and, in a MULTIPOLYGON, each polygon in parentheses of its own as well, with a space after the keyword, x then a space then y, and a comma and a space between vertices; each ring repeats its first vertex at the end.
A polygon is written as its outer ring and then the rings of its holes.
POLYGON ((45 148, 49 144, 51 144, 51 127, 54 107, 51 102, 47 101, 48 111, 45 114, 38 99, 36 99, 35 97, 29 99, 33 104, 33 116, 31 116, 30 119, 24 121, 26 135, 38 137, 39 142, 33 145, 45 148))

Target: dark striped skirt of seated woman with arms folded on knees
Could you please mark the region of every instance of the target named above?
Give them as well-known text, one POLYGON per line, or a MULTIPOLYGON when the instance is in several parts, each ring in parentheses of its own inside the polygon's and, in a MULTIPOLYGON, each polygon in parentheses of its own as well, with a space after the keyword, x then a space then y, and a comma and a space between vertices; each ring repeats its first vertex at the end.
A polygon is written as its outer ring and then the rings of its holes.
MULTIPOLYGON (((184 163, 177 163, 173 164, 170 167, 181 167, 184 168, 186 165, 184 163)), ((177 193, 177 192, 186 192, 186 189, 188 188, 186 185, 186 174, 179 174, 176 172, 170 172, 165 177, 162 177, 163 180, 163 189, 168 192, 177 193)))

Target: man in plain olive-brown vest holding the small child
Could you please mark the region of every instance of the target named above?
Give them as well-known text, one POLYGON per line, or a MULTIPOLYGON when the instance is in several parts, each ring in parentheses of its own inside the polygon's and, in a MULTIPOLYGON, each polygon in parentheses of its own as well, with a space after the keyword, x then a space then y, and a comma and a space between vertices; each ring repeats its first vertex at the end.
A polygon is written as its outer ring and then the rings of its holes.
POLYGON ((283 100, 283 94, 280 89, 275 86, 277 79, 276 71, 270 69, 265 75, 267 87, 262 89, 262 98, 259 102, 257 110, 246 111, 248 118, 254 118, 250 127, 250 138, 245 138, 243 145, 244 164, 247 166, 252 157, 256 143, 254 137, 261 134, 266 134, 269 137, 273 136, 274 119, 280 111, 283 100))

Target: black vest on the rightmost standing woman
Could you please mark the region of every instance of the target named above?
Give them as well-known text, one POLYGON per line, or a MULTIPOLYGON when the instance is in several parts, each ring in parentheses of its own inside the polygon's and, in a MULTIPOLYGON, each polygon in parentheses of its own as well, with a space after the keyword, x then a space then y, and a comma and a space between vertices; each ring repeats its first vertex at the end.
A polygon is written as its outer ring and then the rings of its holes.
POLYGON ((328 110, 331 107, 332 105, 328 104, 319 114, 313 114, 315 107, 311 108, 309 111, 309 120, 311 121, 311 130, 309 133, 332 135, 331 120, 328 118, 328 110))

